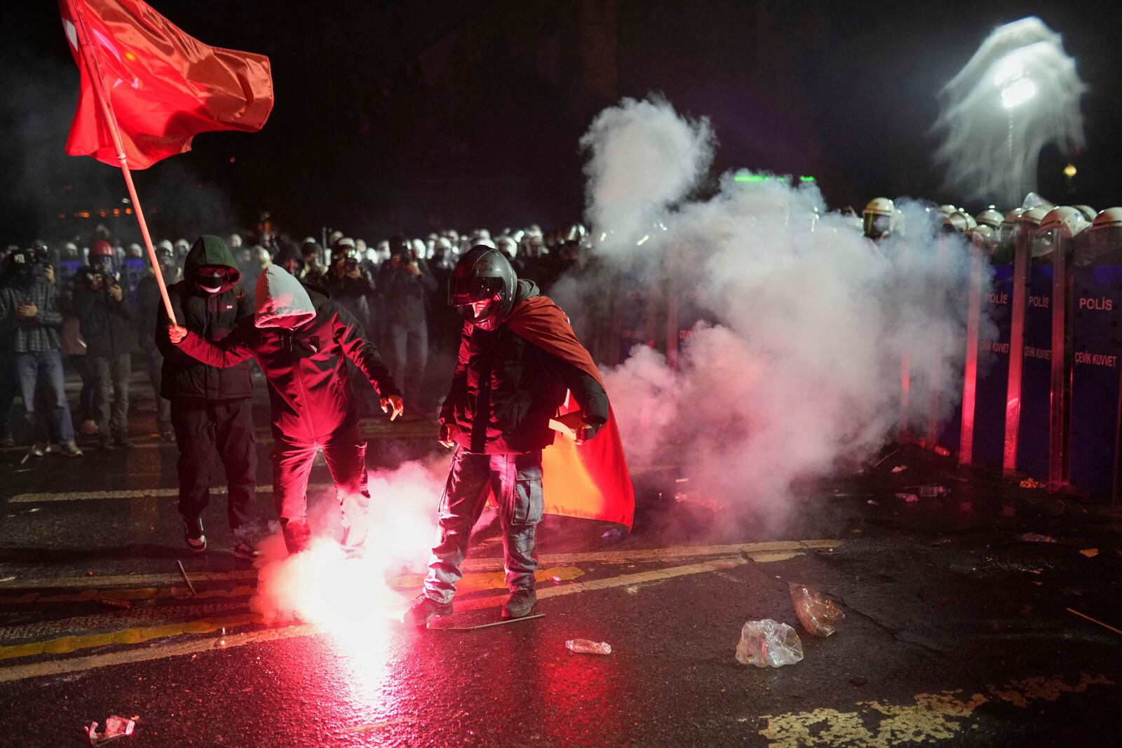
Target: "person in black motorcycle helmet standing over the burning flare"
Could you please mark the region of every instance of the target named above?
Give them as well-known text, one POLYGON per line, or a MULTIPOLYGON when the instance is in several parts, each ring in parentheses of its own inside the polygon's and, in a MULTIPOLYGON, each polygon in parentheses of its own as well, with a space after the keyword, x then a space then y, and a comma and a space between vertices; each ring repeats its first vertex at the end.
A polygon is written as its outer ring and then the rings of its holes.
POLYGON ((452 612, 471 528, 489 492, 499 508, 511 590, 502 615, 530 613, 536 601, 535 527, 545 502, 542 450, 553 443, 551 418, 567 390, 581 408, 573 430, 578 444, 609 417, 599 375, 568 318, 534 283, 519 280, 500 251, 477 246, 461 257, 449 279, 448 304, 465 320, 439 418, 440 442, 454 446, 456 454, 424 592, 404 617, 419 627, 452 612))

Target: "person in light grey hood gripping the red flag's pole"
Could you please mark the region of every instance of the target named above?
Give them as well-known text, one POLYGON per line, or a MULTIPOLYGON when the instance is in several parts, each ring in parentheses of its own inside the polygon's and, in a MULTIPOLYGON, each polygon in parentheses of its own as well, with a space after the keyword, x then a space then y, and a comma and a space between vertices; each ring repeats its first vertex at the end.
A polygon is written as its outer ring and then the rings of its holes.
POLYGON ((390 419, 402 398, 378 350, 355 316, 276 265, 257 279, 256 312, 224 339, 206 341, 184 327, 169 338, 204 363, 230 367, 254 357, 268 379, 273 408, 273 499, 289 553, 307 547, 307 477, 323 450, 342 508, 342 544, 358 555, 366 543, 370 492, 366 442, 359 430, 344 358, 380 397, 390 419))

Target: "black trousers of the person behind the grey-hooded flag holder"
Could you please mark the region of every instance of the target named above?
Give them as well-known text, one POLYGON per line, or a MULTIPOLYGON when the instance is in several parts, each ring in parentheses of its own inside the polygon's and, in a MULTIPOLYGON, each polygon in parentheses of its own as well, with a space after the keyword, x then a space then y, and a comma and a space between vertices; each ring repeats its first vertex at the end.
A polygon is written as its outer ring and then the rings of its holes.
POLYGON ((197 519, 210 502, 210 474, 218 452, 229 487, 230 529, 234 541, 248 541, 257 519, 252 401, 175 398, 172 427, 180 447, 180 514, 188 521, 197 519))

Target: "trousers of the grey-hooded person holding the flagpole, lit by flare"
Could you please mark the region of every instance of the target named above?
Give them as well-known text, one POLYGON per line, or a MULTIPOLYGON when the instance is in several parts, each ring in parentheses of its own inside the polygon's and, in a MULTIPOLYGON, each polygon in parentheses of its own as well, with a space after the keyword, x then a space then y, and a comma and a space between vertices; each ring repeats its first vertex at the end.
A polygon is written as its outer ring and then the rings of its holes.
POLYGON ((366 545, 370 490, 366 486, 366 442, 358 423, 340 426, 325 438, 303 442, 274 433, 273 500, 288 553, 307 547, 307 477, 315 453, 323 450, 335 497, 342 511, 343 551, 359 553, 366 545))

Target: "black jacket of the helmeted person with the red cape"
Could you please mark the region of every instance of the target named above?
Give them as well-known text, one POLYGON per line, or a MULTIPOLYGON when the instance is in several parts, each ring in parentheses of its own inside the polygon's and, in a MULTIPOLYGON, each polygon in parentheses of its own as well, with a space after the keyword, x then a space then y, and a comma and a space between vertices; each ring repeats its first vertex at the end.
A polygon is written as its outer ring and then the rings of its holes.
MULTIPOLYGON (((519 280, 515 304, 537 296, 519 280)), ((549 422, 572 393, 592 424, 608 419, 608 397, 595 378, 516 335, 465 323, 452 386, 440 422, 454 426, 456 442, 480 454, 517 454, 553 443, 549 422)))

